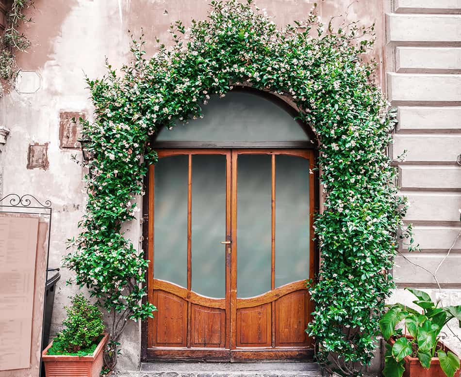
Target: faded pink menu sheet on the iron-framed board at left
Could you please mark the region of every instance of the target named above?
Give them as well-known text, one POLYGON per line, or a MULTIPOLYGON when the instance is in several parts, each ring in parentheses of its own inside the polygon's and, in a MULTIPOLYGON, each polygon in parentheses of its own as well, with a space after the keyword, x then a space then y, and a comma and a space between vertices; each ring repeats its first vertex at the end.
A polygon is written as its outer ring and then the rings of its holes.
POLYGON ((30 367, 38 220, 0 214, 0 371, 30 367))

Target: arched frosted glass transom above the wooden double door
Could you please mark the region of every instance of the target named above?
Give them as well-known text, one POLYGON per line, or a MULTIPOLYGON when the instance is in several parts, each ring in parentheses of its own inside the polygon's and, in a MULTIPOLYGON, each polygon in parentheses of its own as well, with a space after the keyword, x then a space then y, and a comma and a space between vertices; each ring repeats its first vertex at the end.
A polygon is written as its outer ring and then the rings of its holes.
POLYGON ((213 95, 202 105, 203 118, 180 121, 160 131, 156 141, 308 141, 293 117, 273 102, 251 93, 213 95))

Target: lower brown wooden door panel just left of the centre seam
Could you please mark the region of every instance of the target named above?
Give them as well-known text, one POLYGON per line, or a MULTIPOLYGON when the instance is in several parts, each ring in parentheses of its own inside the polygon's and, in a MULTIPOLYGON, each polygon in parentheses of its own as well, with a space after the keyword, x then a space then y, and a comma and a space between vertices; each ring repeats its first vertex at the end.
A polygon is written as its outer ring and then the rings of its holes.
POLYGON ((226 312, 195 304, 191 309, 191 347, 224 347, 226 312))

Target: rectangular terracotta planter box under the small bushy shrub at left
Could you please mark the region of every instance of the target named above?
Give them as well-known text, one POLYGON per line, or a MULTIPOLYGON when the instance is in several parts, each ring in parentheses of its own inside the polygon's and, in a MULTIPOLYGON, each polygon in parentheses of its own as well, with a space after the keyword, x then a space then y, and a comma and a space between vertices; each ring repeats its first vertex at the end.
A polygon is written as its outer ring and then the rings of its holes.
POLYGON ((91 356, 47 355, 51 342, 42 352, 47 377, 99 377, 102 369, 102 354, 109 338, 105 333, 91 356))

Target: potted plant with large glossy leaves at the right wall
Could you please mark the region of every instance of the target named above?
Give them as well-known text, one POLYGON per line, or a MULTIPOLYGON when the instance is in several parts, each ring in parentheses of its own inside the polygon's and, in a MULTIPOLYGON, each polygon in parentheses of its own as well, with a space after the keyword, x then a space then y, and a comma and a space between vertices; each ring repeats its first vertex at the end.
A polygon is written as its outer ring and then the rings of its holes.
POLYGON ((386 344, 385 377, 459 377, 460 359, 440 342, 439 333, 452 318, 460 321, 461 305, 439 307, 426 292, 408 289, 422 308, 422 314, 396 303, 379 321, 386 344), (405 330, 395 328, 400 322, 405 330))

